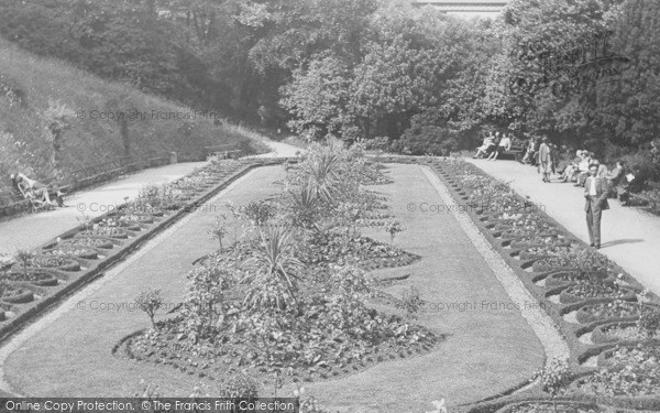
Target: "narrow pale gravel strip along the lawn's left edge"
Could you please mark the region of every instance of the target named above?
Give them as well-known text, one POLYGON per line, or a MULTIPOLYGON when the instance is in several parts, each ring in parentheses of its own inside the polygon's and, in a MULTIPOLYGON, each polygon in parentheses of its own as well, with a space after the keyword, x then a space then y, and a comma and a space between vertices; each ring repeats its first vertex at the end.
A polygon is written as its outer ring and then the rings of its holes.
MULTIPOLYGON (((212 205, 216 200, 218 200, 219 198, 224 196, 228 192, 233 189, 237 185, 244 183, 244 181, 248 178, 249 175, 250 174, 242 176, 241 178, 234 181, 233 183, 228 185, 218 195, 213 196, 211 199, 209 199, 204 205, 212 205)), ((8 341, 6 341, 2 345, 2 347, 0 347, 0 390, 8 392, 10 394, 14 394, 15 396, 23 396, 23 395, 19 394, 18 392, 15 392, 11 388, 11 384, 9 384, 4 378, 3 366, 7 361, 7 358, 12 352, 16 351, 19 348, 21 348, 23 345, 25 345, 25 343, 30 338, 34 337, 35 335, 41 333, 43 329, 45 329, 47 326, 55 323, 57 319, 59 319, 66 313, 68 313, 70 311, 79 309, 77 307, 78 303, 85 303, 87 297, 89 297, 95 292, 101 290, 108 282, 112 281, 117 275, 121 274, 124 270, 127 270, 129 267, 133 265, 135 262, 140 261, 143 257, 145 257, 154 248, 158 247, 161 243, 166 241, 176 231, 178 231, 182 227, 184 227, 186 224, 188 224, 188 221, 190 221, 190 219, 195 218, 196 216, 198 216, 200 214, 206 214, 206 209, 204 208, 204 205, 200 206, 199 208, 196 208, 194 211, 191 211, 190 214, 186 215, 185 217, 183 217, 182 219, 176 221, 174 225, 168 227, 166 230, 164 230, 163 232, 158 233, 156 237, 148 240, 145 244, 141 246, 136 252, 129 256, 128 259, 125 259, 124 261, 120 262, 119 264, 114 265, 109 271, 107 271, 103 274, 103 276, 96 280, 94 283, 89 284, 88 286, 84 287, 82 290, 78 291, 70 297, 66 298, 66 301, 63 302, 62 304, 59 304, 56 308, 54 308, 46 315, 42 316, 37 320, 33 322, 26 328, 24 328, 23 330, 21 330, 20 333, 18 333, 13 337, 11 337, 8 341)))

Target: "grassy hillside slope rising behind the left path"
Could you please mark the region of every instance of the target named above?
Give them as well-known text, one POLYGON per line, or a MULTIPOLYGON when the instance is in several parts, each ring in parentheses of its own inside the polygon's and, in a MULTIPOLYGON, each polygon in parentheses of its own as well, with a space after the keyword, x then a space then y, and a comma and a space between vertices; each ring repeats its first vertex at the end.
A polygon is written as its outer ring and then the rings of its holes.
POLYGON ((249 152, 263 144, 216 113, 102 80, 0 39, 0 189, 9 174, 40 180, 124 156, 177 152, 199 160, 204 146, 232 143, 249 152))

